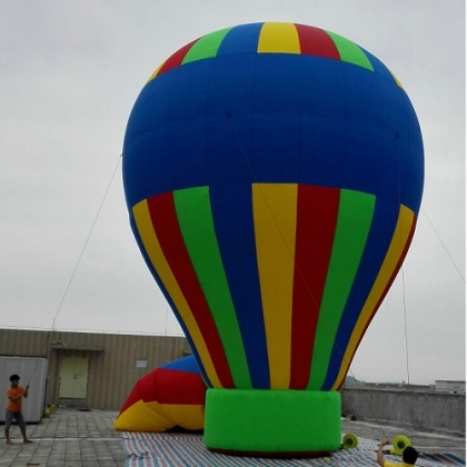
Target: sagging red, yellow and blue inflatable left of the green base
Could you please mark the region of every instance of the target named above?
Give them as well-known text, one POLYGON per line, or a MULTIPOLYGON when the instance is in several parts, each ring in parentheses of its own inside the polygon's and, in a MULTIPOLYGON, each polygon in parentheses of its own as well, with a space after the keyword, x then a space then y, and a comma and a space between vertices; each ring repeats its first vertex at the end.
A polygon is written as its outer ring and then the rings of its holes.
POLYGON ((206 389, 193 356, 162 365, 138 380, 115 427, 150 433, 202 429, 206 389))

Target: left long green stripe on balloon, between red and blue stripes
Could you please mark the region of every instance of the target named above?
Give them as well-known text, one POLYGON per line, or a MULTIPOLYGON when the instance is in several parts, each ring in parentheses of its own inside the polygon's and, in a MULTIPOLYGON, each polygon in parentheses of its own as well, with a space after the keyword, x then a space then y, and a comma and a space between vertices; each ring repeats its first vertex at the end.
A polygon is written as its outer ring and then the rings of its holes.
POLYGON ((251 388, 237 315, 212 222, 209 188, 173 191, 177 217, 237 387, 251 388))

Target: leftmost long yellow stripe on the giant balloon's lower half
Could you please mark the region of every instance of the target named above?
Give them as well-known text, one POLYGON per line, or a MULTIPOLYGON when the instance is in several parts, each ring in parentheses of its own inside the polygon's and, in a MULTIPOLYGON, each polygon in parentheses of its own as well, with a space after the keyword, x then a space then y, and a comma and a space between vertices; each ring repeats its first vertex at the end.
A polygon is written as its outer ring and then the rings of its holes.
POLYGON ((167 262, 167 259, 162 252, 162 248, 160 247, 159 240, 152 228, 152 221, 149 215, 148 202, 146 199, 133 206, 133 216, 146 252, 151 260, 153 268, 157 270, 160 280, 170 295, 170 298, 173 300, 173 304, 177 307, 181 319, 183 320, 185 326, 191 336, 191 339, 193 340, 210 382, 217 388, 222 387, 217 376, 209 351, 206 347, 205 339, 202 338, 202 335, 199 330, 198 324, 196 322, 190 307, 188 306, 187 300, 185 299, 183 294, 178 286, 178 282, 172 274, 172 270, 170 269, 169 264, 167 262))

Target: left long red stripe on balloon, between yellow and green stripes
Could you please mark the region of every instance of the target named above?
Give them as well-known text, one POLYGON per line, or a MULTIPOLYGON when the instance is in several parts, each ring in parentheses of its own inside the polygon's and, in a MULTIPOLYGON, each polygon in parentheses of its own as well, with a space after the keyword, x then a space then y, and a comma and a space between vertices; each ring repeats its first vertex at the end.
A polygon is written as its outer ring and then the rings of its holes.
POLYGON ((148 199, 152 226, 171 271, 197 321, 222 387, 234 387, 219 332, 178 223, 171 192, 148 199))

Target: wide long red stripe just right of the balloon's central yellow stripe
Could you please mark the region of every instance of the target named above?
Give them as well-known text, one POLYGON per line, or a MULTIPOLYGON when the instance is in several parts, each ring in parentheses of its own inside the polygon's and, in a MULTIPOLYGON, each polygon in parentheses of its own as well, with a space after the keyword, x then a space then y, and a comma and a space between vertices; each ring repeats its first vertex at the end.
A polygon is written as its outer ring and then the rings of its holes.
POLYGON ((299 186, 294 274, 290 388, 308 384, 319 307, 326 284, 340 190, 299 186))

